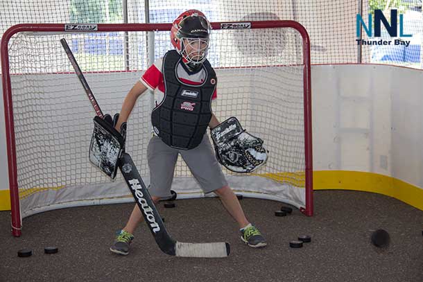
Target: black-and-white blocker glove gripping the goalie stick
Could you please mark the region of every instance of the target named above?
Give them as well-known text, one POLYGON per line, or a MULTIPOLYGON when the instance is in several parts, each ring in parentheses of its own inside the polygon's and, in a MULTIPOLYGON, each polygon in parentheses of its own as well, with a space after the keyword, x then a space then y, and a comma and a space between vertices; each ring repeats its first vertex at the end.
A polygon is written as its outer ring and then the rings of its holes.
POLYGON ((105 114, 103 119, 94 117, 94 131, 89 145, 89 161, 112 179, 116 177, 118 160, 125 150, 126 123, 122 123, 121 132, 118 132, 114 128, 118 119, 119 114, 115 114, 113 119, 110 114, 105 114))

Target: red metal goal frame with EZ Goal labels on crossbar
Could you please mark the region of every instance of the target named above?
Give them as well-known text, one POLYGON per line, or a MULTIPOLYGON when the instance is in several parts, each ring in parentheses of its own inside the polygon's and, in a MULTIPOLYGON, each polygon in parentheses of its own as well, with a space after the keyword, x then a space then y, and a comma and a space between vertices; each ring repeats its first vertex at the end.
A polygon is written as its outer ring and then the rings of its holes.
MULTIPOLYGON (((227 26, 243 26, 244 22, 213 22, 212 28, 220 30, 227 26)), ((130 31, 169 31, 171 24, 95 24, 95 32, 130 32, 130 31)), ((17 24, 3 34, 1 39, 1 76, 3 84, 3 102, 6 124, 6 144, 8 150, 8 178, 12 217, 12 235, 21 236, 21 213, 19 208, 19 187, 17 182, 17 153, 15 143, 15 124, 12 107, 12 87, 10 80, 8 43, 17 33, 66 33, 66 24, 17 24)), ((313 215, 313 165, 311 135, 311 58, 310 39, 307 30, 296 21, 250 21, 249 28, 293 28, 302 37, 303 67, 303 105, 304 105, 304 161, 305 161, 305 215, 313 215)), ((75 33, 75 31, 72 31, 75 33)), ((83 31, 81 31, 83 32, 83 31)), ((92 31, 89 31, 92 33, 92 31)))

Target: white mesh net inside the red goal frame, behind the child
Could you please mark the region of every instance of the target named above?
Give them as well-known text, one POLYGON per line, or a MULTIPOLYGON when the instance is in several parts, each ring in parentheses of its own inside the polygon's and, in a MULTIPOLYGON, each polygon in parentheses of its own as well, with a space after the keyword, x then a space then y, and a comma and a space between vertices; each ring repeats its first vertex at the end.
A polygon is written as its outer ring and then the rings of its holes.
MULTIPOLYGON (((171 49, 169 32, 158 31, 150 49, 146 32, 19 33, 12 38, 10 73, 23 216, 46 206, 129 195, 119 174, 110 182, 89 164, 94 110, 62 49, 62 37, 101 109, 110 114, 120 111, 123 98, 154 58, 171 49)), ((241 177, 225 170, 232 188, 304 207, 300 33, 293 28, 213 30, 210 44, 209 60, 218 76, 216 116, 221 121, 236 116, 270 151, 267 165, 257 174, 241 177)), ((146 184, 152 107, 149 94, 139 98, 128 121, 126 146, 146 184)), ((190 176, 179 159, 173 189, 180 195, 200 193, 190 176)))

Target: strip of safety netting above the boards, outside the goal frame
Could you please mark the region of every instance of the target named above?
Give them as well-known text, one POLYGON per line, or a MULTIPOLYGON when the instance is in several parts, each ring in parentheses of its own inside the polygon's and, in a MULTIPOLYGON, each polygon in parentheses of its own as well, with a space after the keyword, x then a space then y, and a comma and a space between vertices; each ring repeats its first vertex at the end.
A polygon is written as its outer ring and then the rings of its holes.
MULTIPOLYGON (((202 10, 210 21, 298 21, 311 37, 313 64, 371 62, 417 69, 423 66, 422 0, 3 0, 0 34, 19 23, 118 24, 145 23, 147 19, 169 23, 189 9, 202 10), (361 13, 367 21, 368 13, 374 9, 386 10, 386 15, 390 9, 404 14, 404 34, 413 37, 402 39, 410 40, 409 46, 357 46, 356 15, 361 13)), ((382 38, 390 39, 386 33, 382 38)))

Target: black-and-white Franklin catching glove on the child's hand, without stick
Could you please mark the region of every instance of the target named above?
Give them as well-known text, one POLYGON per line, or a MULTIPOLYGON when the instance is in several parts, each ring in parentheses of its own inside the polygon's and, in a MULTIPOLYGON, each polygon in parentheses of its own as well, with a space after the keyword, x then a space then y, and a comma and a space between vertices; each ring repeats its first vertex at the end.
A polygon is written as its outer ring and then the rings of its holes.
POLYGON ((263 140, 246 132, 238 119, 232 116, 212 130, 216 158, 234 173, 252 173, 266 164, 268 151, 263 140))

